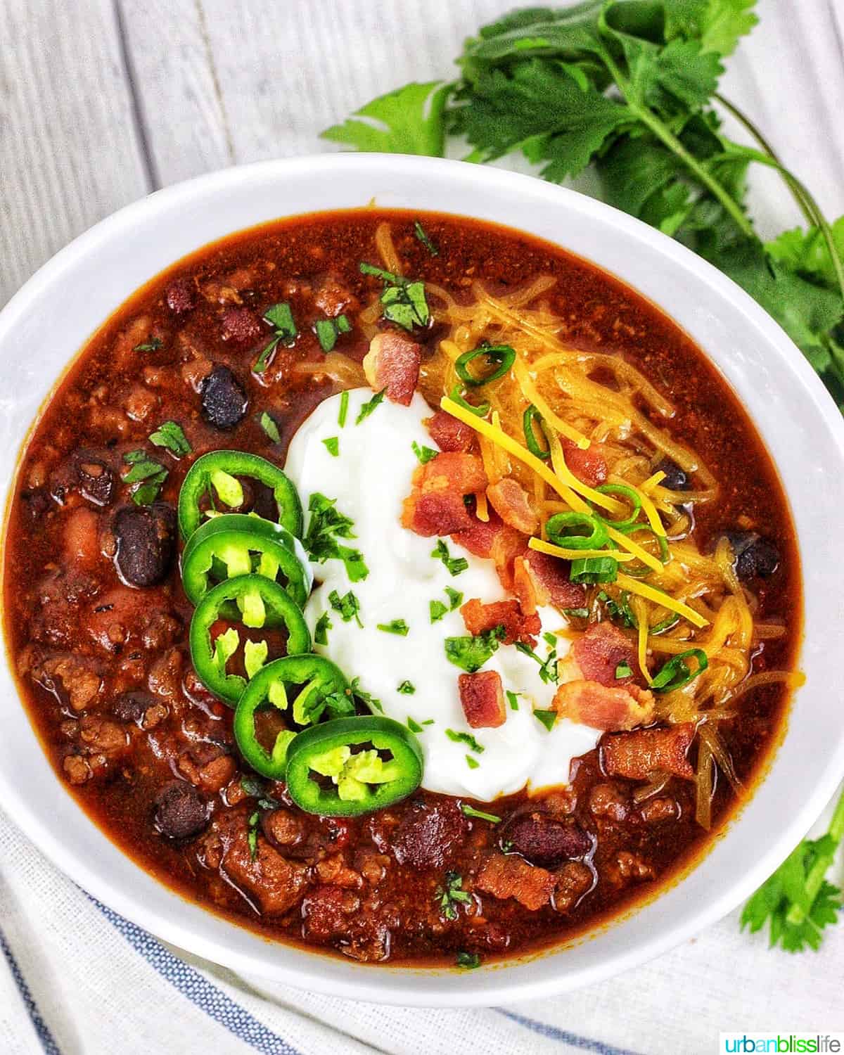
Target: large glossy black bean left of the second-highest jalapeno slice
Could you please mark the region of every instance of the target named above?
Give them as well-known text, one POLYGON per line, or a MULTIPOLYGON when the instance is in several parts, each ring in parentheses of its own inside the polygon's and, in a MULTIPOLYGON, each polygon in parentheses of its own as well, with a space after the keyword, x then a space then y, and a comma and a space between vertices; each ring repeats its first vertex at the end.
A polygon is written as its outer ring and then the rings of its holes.
POLYGON ((167 577, 175 552, 176 514, 167 502, 124 505, 114 516, 115 563, 123 580, 152 587, 167 577))

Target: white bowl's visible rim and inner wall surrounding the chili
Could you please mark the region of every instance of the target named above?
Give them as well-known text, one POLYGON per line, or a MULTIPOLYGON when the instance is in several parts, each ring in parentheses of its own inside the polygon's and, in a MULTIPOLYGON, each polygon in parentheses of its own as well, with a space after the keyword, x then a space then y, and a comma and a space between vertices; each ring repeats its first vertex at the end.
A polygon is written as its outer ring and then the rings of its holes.
POLYGON ((660 305, 737 391, 779 466, 798 530, 807 680, 764 783, 712 850, 661 896, 545 955, 453 972, 362 966, 265 939, 183 900, 124 857, 47 764, 6 665, 0 803, 72 879, 153 934, 235 971, 334 996, 418 1005, 536 999, 658 955, 714 922, 805 835, 844 772, 844 424, 801 353, 746 293, 645 224, 529 176, 457 161, 325 155, 229 169, 122 209, 46 264, 0 313, 0 480, 65 364, 138 286, 225 234, 279 216, 379 206, 511 225, 593 261, 660 305))

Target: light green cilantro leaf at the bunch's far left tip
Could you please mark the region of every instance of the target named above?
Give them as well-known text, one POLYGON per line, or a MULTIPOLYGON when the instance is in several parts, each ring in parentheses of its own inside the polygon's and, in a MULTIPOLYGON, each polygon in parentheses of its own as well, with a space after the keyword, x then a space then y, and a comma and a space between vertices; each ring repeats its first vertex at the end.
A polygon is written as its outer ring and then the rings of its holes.
POLYGON ((354 150, 439 157, 444 148, 443 114, 450 91, 450 84, 438 80, 405 84, 367 102, 343 124, 326 129, 322 137, 354 150))

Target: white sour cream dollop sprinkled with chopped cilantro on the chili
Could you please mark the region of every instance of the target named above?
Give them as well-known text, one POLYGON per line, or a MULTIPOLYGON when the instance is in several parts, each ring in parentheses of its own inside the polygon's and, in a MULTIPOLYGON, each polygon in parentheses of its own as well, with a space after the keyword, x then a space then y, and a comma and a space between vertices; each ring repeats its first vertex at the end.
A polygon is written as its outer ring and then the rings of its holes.
MULTIPOLYGON (((422 727, 418 733, 425 753, 422 786, 429 791, 491 801, 525 785, 536 789, 568 783, 571 760, 591 750, 599 733, 567 718, 557 720, 549 732, 534 716, 534 709, 551 707, 555 687, 541 680, 539 665, 530 656, 501 646, 483 666, 498 671, 505 691, 518 694, 518 709, 507 704, 502 726, 472 729, 463 715, 458 693, 462 671, 446 657, 444 642, 467 631, 459 605, 450 608, 445 588, 460 591, 463 602, 477 597, 486 603, 506 594, 491 560, 446 540, 453 557, 468 561, 464 572, 453 576, 442 560, 431 556, 436 538, 422 538, 401 525, 402 501, 410 493, 410 478, 419 464, 413 444, 431 444, 422 424, 430 417, 430 407, 418 394, 408 407, 385 400, 358 423, 372 392, 359 388, 348 396, 345 426, 339 424, 341 397, 333 396, 303 423, 287 457, 286 472, 305 509, 314 493, 335 500, 337 509, 353 521, 357 536, 340 541, 360 550, 369 570, 366 578, 351 583, 342 560, 312 564, 319 586, 305 618, 311 633, 324 613, 331 621, 328 644, 315 645, 315 651, 332 659, 347 677, 359 677, 361 688, 381 701, 385 714, 422 727), (349 590, 360 602, 363 627, 353 618, 344 621, 329 601, 332 591, 343 597, 349 590), (436 622, 430 621, 433 600, 448 608, 436 622), (407 624, 406 636, 378 629, 379 624, 397 619, 407 624), (405 683, 414 687, 413 694, 398 691, 405 683), (473 749, 461 733, 474 737, 482 750, 473 749)), ((305 516, 307 528, 309 514, 305 516)), ((561 627, 563 620, 553 609, 539 614, 543 632, 561 627)), ((559 638, 558 656, 567 650, 568 642, 559 638)), ((548 653, 541 639, 537 652, 543 658, 548 653)))

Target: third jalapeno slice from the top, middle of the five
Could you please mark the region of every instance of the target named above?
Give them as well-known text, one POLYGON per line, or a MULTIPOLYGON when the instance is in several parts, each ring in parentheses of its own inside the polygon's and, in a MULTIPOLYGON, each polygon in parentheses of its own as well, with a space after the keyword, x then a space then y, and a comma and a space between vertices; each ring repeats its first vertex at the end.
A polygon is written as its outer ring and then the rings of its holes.
MULTIPOLYGON (((263 575, 238 575, 209 590, 193 613, 190 629, 191 660, 203 685, 232 706, 246 688, 246 678, 226 670, 237 651, 241 635, 230 627, 211 640, 211 627, 218 620, 242 622, 245 627, 286 627, 287 652, 310 651, 310 632, 299 606, 283 587, 263 575)), ((247 641, 244 666, 254 676, 268 654, 266 641, 247 641), (251 647, 250 647, 251 646, 251 647)))

